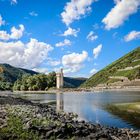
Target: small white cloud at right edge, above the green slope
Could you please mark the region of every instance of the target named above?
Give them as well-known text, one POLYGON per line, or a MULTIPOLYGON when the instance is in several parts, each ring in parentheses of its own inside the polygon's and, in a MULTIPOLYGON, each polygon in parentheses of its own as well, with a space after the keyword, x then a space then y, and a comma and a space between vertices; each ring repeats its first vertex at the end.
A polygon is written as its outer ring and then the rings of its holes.
POLYGON ((140 39, 140 31, 131 31, 130 33, 128 33, 125 37, 124 40, 126 42, 129 42, 131 40, 135 40, 135 39, 140 39))

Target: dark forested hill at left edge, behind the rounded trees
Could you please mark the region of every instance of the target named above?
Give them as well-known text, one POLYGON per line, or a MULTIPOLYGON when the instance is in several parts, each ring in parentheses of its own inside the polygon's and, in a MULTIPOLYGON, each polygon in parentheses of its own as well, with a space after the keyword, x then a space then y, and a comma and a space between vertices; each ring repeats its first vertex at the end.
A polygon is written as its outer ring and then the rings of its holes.
POLYGON ((0 81, 14 83, 20 79, 24 74, 38 74, 35 71, 16 68, 9 64, 0 64, 0 81))

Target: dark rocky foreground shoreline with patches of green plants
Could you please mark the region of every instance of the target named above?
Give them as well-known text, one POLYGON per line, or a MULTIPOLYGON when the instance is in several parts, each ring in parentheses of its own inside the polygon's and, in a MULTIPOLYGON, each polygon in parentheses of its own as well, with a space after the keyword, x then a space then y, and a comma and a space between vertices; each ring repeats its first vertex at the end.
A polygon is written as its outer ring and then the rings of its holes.
POLYGON ((140 140, 140 131, 78 121, 49 105, 0 95, 0 140, 140 140))

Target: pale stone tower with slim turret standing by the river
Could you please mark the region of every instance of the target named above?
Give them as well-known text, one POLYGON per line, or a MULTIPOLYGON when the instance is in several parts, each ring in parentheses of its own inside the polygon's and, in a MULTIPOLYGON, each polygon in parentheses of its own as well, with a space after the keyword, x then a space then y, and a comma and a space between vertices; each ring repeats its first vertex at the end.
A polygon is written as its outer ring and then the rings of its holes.
POLYGON ((63 69, 60 70, 60 72, 56 73, 56 87, 58 89, 63 88, 63 69))

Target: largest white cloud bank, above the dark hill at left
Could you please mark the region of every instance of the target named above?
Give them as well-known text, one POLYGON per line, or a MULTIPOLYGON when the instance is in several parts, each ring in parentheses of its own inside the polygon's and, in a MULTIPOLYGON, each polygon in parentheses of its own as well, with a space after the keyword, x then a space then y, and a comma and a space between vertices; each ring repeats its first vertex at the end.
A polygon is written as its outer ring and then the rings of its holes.
POLYGON ((24 44, 17 42, 0 42, 0 63, 8 63, 23 68, 36 68, 47 60, 53 48, 44 42, 30 39, 24 44))

